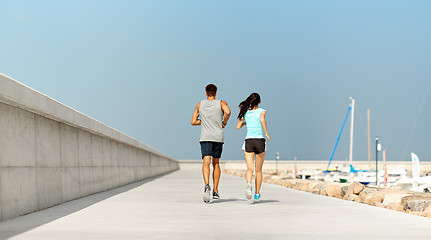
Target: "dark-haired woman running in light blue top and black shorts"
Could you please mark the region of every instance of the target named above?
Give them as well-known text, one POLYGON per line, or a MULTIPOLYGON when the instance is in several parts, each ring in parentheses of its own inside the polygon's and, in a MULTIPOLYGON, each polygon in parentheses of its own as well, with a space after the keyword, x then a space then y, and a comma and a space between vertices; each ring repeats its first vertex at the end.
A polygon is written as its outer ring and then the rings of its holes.
POLYGON ((266 143, 265 137, 263 136, 263 131, 265 132, 268 142, 271 140, 266 128, 266 111, 262 108, 259 108, 259 104, 260 96, 257 93, 252 93, 245 101, 242 101, 239 104, 240 111, 238 114, 238 123, 236 124, 236 129, 240 129, 244 125, 247 125, 247 136, 242 147, 242 150, 244 150, 245 163, 247 165, 247 187, 245 190, 245 196, 247 199, 251 199, 253 196, 251 178, 253 175, 253 168, 255 168, 255 201, 259 200, 260 198, 260 187, 262 186, 262 166, 263 161, 265 160, 266 143))

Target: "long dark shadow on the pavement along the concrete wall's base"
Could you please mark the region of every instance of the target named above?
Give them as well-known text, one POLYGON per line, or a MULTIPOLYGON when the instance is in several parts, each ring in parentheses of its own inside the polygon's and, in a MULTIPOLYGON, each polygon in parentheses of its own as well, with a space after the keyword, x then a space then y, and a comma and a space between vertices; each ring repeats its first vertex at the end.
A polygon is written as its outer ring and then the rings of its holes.
POLYGON ((168 175, 172 172, 157 175, 139 182, 130 183, 122 187, 114 188, 100 193, 95 193, 86 197, 78 198, 57 206, 53 206, 41 211, 30 213, 21 217, 0 222, 0 240, 9 239, 16 235, 30 231, 36 227, 53 222, 57 219, 73 214, 98 202, 130 191, 157 178, 168 175))

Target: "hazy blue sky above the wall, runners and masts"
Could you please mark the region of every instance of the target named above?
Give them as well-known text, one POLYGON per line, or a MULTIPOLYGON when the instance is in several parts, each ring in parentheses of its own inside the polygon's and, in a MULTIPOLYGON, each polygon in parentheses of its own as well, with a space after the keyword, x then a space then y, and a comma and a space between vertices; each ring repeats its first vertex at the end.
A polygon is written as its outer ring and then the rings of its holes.
MULTIPOLYGON (((223 159, 243 158, 237 105, 258 92, 268 159, 329 159, 353 96, 354 160, 368 156, 367 109, 389 160, 431 160, 431 94, 406 148, 431 83, 431 1, 0 6, 0 72, 177 159, 200 158, 190 119, 215 83, 233 112, 223 159)), ((335 159, 348 158, 346 128, 335 159)))

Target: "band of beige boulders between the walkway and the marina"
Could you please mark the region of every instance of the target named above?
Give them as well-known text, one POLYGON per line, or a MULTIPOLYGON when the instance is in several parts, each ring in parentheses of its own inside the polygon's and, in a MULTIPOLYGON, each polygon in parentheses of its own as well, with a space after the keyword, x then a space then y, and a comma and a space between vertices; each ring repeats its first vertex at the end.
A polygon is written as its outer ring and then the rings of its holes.
MULTIPOLYGON (((245 177, 245 170, 223 169, 223 172, 245 177)), ((431 193, 412 192, 392 187, 365 186, 358 182, 336 183, 292 179, 273 172, 264 172, 263 181, 313 194, 431 218, 431 193)))

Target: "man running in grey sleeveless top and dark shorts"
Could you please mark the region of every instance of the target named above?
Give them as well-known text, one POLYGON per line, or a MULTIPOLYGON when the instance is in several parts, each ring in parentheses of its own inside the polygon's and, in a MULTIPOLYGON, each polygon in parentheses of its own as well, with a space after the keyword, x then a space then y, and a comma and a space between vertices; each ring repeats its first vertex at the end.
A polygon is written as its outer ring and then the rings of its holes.
POLYGON ((202 152, 202 174, 204 177, 205 188, 203 200, 206 203, 220 198, 218 193, 218 184, 220 181, 220 157, 223 151, 223 128, 226 126, 230 117, 230 109, 225 101, 216 100, 217 87, 214 84, 208 84, 205 87, 207 99, 202 100, 196 105, 192 115, 191 124, 193 126, 201 125, 201 152, 202 152), (214 189, 211 194, 209 185, 210 164, 213 164, 213 183, 214 189))

